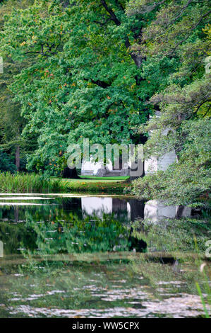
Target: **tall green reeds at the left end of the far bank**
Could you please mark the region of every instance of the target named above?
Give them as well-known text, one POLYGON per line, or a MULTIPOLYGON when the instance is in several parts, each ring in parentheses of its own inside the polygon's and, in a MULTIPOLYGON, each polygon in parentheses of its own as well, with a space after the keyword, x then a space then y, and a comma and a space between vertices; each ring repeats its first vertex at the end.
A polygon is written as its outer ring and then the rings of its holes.
POLYGON ((68 186, 59 179, 44 179, 38 174, 0 173, 1 193, 61 193, 68 186))

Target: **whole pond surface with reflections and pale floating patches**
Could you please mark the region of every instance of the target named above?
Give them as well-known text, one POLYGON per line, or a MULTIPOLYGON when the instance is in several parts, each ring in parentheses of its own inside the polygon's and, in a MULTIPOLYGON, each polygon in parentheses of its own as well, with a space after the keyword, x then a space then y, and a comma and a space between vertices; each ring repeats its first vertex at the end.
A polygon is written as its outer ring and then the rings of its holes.
POLYGON ((194 244, 186 230, 169 229, 179 217, 191 210, 123 197, 1 194, 0 317, 202 317, 196 281, 205 302, 207 294, 194 244), (179 246, 188 259, 173 256, 179 246))

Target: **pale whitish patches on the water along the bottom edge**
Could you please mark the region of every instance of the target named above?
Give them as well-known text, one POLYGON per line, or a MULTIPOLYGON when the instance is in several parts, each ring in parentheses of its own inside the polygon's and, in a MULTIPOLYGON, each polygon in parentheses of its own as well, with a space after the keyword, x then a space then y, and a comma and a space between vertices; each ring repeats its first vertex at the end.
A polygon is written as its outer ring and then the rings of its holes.
POLYGON ((134 307, 108 307, 107 309, 78 309, 67 310, 46 307, 32 307, 30 305, 20 305, 10 308, 11 315, 23 313, 28 317, 197 317, 203 315, 203 305, 200 304, 200 298, 197 295, 183 294, 179 298, 168 298, 167 300, 153 300, 142 303, 141 308, 134 307))

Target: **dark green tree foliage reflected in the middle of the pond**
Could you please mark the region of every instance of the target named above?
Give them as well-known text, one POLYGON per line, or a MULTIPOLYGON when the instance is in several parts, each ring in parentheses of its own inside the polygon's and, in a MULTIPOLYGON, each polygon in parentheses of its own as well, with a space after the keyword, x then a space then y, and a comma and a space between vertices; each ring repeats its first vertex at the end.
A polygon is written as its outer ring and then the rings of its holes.
POLYGON ((82 220, 76 214, 70 213, 68 223, 57 222, 49 226, 49 223, 28 222, 27 225, 36 232, 37 247, 42 249, 43 255, 106 252, 111 251, 114 245, 119 245, 119 251, 123 251, 130 245, 126 227, 106 214, 103 220, 95 215, 84 216, 82 220), (64 232, 61 232, 61 227, 64 232), (43 242, 53 230, 56 232, 51 234, 52 239, 43 242))

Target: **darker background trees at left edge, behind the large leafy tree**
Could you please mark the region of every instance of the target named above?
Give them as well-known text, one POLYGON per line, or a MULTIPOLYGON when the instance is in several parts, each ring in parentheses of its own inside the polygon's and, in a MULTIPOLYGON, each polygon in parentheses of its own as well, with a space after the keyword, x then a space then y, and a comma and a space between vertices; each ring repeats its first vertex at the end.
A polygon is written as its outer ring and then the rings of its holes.
MULTIPOLYGON (((28 5, 30 3, 32 4, 32 1, 28 1, 28 5)), ((1 29, 4 26, 5 15, 11 13, 14 5, 18 6, 18 8, 25 8, 27 3, 25 0, 18 2, 18 4, 16 1, 5 1, 5 3, 0 6, 1 29)), ((11 154, 12 159, 16 160, 16 169, 18 171, 20 168, 24 167, 25 154, 30 150, 32 140, 30 143, 25 142, 21 137, 21 132, 25 126, 25 119, 20 115, 20 103, 13 101, 14 95, 9 89, 9 86, 13 82, 13 77, 27 64, 27 62, 24 62, 23 64, 14 62, 11 57, 7 55, 4 57, 4 73, 0 74, 0 147, 1 149, 4 149, 5 152, 11 154)), ((8 170, 11 171, 11 168, 8 170)))

